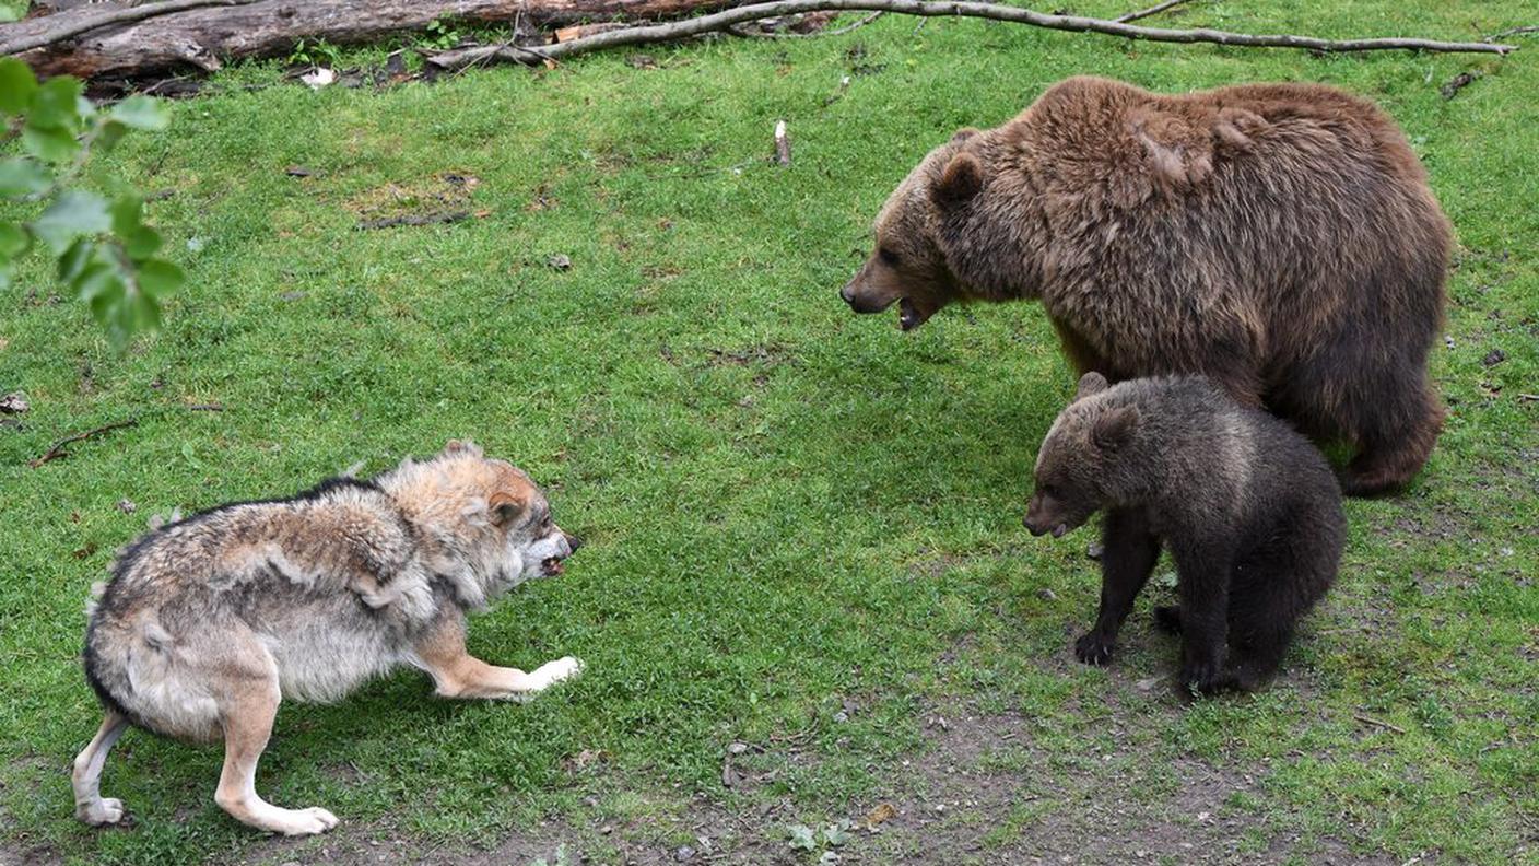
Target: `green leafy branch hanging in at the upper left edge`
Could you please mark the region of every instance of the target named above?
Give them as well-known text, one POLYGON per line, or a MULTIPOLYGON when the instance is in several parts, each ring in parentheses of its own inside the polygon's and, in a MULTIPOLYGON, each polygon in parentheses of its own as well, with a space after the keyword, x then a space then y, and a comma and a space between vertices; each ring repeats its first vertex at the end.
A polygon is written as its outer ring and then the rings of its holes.
POLYGON ((162 299, 183 282, 182 268, 155 257, 162 240, 145 225, 132 193, 108 200, 75 186, 92 153, 111 149, 129 129, 165 129, 171 116, 155 99, 134 96, 98 108, 80 80, 58 76, 38 83, 12 57, 0 59, 0 200, 46 202, 29 222, 0 216, 0 288, 12 265, 34 247, 57 262, 60 282, 83 300, 122 350, 160 327, 162 299))

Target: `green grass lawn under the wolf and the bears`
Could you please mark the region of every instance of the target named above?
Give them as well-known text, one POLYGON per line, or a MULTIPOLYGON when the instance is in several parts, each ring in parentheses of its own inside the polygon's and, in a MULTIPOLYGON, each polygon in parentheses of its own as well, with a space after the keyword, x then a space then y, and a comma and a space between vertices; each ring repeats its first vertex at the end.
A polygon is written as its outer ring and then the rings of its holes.
MULTIPOLYGON (((1473 39, 1530 12, 1203 3, 1170 22, 1473 39)), ((51 297, 40 265, 0 291, 0 393, 32 404, 0 427, 0 844, 77 861, 266 855, 212 803, 217 749, 139 732, 105 775, 137 824, 72 820, 65 766, 98 721, 77 660, 88 587, 151 513, 469 436, 546 484, 588 541, 563 578, 477 618, 472 652, 523 667, 574 653, 588 672, 529 706, 437 701, 411 672, 337 706, 288 704, 259 774, 271 800, 451 846, 543 818, 603 861, 628 832, 686 841, 696 792, 734 814, 786 803, 765 838, 788 815, 859 817, 903 794, 896 767, 930 749, 934 707, 971 706, 1019 713, 1020 737, 986 763, 1045 798, 985 815, 970 832, 990 848, 1031 844, 1100 797, 1162 815, 1200 764, 1250 780, 1214 795, 1245 826, 1240 855, 1287 835, 1297 861, 1325 848, 1539 861, 1539 402, 1521 399, 1539 390, 1539 43, 1505 60, 1311 57, 890 17, 826 40, 648 52, 659 68, 619 52, 383 92, 242 66, 179 103, 171 133, 95 166, 174 193, 149 219, 189 280, 126 357, 51 297), (1485 76, 1444 100, 1465 69, 1485 76), (1174 661, 1147 599, 1114 669, 1070 661, 1097 593, 1090 535, 1019 524, 1073 384, 1040 308, 956 308, 900 334, 834 294, 928 148, 1080 72, 1368 96, 1405 126, 1459 231, 1433 361, 1447 431, 1410 492, 1348 504, 1339 586, 1254 698, 1183 707, 1137 689, 1174 661), (788 170, 765 159, 777 119, 788 170), (295 163, 315 174, 286 176, 295 163), (479 179, 466 206, 483 217, 354 230, 360 208, 462 194, 446 173, 479 179), (1507 361, 1485 367, 1493 348, 1507 361), (180 408, 205 402, 225 411, 180 408), (139 427, 25 465, 128 416, 139 427), (117 510, 125 498, 137 513, 117 510), (837 721, 845 700, 859 712, 837 721), (776 746, 802 732, 803 752, 776 746), (748 794, 720 783, 734 740, 768 749, 745 766, 771 781, 748 794), (585 749, 602 758, 579 769, 585 749), (603 821, 623 826, 593 835, 603 821)))

